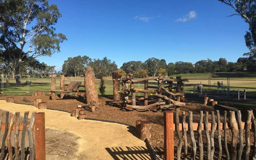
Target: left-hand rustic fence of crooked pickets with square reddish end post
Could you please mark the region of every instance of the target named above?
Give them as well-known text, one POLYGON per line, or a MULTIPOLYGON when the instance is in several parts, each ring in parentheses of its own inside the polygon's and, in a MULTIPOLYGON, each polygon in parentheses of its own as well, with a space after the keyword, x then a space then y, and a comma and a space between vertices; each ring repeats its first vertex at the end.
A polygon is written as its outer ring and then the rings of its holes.
POLYGON ((29 159, 30 160, 45 160, 45 121, 44 112, 32 112, 30 123, 28 123, 28 111, 24 113, 23 123, 19 122, 20 112, 9 114, 9 112, 0 113, 0 130, 4 131, 1 143, 0 160, 24 160, 28 155, 25 155, 25 135, 28 134, 29 143, 29 159), (5 123, 3 118, 5 115, 5 123), (9 118, 10 117, 10 118, 9 118), (9 122, 10 119, 10 122, 9 122), (11 134, 14 131, 15 144, 12 147, 11 134), (20 135, 21 132, 21 136, 20 135), (35 133, 34 133, 35 132, 35 133), (35 137, 34 137, 35 135, 35 137), (20 145, 19 145, 20 137, 20 145), (8 155, 5 153, 5 144, 7 143, 8 155), (20 146, 20 147, 19 147, 20 146), (13 148, 14 153, 13 154, 13 148), (7 157, 8 156, 8 157, 7 157))

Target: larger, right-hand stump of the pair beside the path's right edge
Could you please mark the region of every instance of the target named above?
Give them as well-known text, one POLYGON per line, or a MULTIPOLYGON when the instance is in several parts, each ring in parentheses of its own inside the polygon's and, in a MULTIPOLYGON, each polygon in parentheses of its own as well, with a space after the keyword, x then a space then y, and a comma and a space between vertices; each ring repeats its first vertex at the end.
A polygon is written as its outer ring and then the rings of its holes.
POLYGON ((143 121, 140 123, 140 139, 145 141, 147 138, 149 142, 151 142, 151 129, 152 123, 148 121, 143 121))

